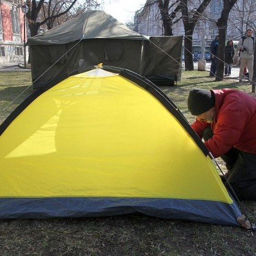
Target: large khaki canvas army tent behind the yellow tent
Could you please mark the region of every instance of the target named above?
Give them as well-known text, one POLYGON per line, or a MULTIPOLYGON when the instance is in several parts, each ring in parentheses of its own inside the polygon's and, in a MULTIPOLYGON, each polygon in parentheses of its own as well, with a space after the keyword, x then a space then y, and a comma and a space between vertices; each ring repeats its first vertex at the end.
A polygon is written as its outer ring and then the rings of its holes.
POLYGON ((180 80, 182 42, 182 36, 143 36, 104 11, 88 10, 28 39, 32 81, 37 87, 102 62, 171 85, 180 80))

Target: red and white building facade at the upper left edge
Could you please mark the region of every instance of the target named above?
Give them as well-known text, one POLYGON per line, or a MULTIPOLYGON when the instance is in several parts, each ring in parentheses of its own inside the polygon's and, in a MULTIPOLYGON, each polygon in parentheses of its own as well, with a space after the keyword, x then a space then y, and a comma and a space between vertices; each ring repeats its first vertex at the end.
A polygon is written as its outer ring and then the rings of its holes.
POLYGON ((19 0, 0 0, 1 64, 24 61, 24 37, 26 40, 27 31, 24 31, 22 4, 19 0))

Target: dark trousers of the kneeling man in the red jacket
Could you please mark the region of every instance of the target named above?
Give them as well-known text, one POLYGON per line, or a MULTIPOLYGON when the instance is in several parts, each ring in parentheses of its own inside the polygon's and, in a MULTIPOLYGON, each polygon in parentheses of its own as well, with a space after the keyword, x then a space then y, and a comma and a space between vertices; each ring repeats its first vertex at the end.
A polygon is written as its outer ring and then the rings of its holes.
MULTIPOLYGON (((213 131, 208 127, 203 131, 203 138, 211 137, 213 131)), ((239 200, 256 200, 256 155, 232 148, 221 158, 230 171, 227 179, 239 200)))

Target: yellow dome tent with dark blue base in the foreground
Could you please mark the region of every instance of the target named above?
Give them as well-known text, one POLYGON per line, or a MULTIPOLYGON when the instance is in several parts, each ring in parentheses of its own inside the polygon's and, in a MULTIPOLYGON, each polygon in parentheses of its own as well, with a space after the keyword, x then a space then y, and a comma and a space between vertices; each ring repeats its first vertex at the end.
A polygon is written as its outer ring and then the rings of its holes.
POLYGON ((0 134, 1 219, 139 212, 238 225, 204 144, 157 86, 128 70, 45 85, 0 134))

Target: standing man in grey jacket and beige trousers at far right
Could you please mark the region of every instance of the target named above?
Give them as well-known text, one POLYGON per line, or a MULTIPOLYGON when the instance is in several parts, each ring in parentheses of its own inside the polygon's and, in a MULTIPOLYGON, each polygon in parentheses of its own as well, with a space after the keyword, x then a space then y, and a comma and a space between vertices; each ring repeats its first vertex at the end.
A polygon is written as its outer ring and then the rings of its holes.
POLYGON ((254 48, 255 38, 252 37, 252 29, 247 29, 246 36, 241 37, 238 42, 238 49, 240 50, 240 72, 239 83, 242 83, 244 67, 247 66, 249 72, 249 81, 252 81, 254 76, 254 48))

